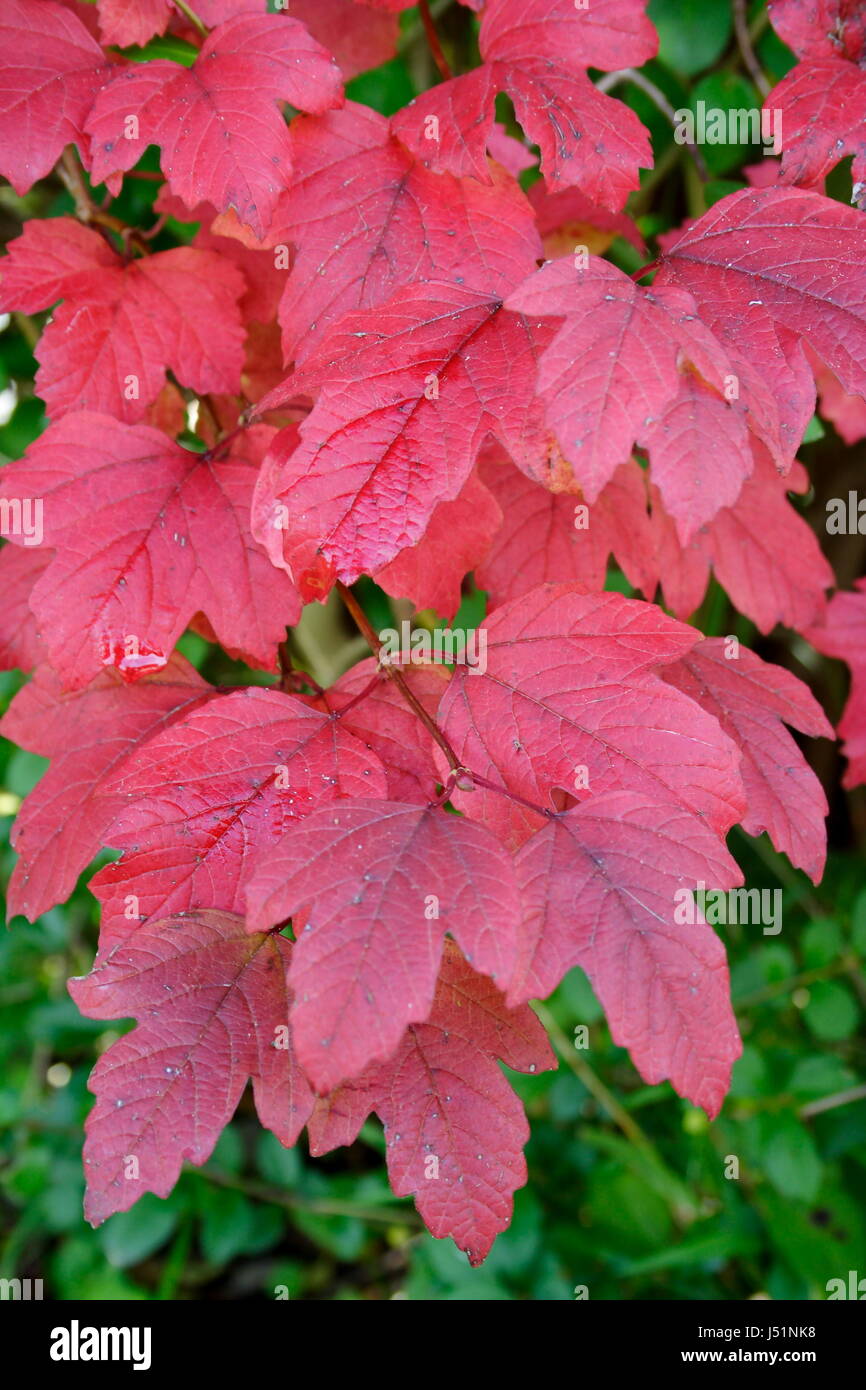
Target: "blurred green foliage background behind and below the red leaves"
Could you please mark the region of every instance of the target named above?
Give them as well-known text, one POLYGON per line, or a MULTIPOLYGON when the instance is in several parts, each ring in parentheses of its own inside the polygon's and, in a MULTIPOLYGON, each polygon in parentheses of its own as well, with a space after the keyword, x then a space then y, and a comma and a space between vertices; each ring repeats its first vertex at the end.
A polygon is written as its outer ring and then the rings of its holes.
MULTIPOLYGON (((453 4, 432 8, 446 51, 457 67, 470 65, 471 15, 453 4)), ((651 0, 649 13, 662 51, 645 72, 674 107, 760 104, 733 42, 728 0, 651 0)), ((760 63, 777 79, 791 54, 769 31, 763 4, 752 6, 751 21, 760 63)), ((400 57, 350 86, 357 100, 386 113, 434 81, 416 11, 403 17, 403 31, 400 57)), ((760 158, 758 150, 705 147, 712 181, 702 188, 645 93, 626 83, 617 95, 653 136, 656 171, 632 200, 646 236, 742 186, 742 165, 760 158)), ((500 115, 510 121, 507 103, 500 115)), ((153 170, 152 156, 143 167, 153 170)), ((842 168, 828 192, 847 200, 849 185, 842 168)), ((153 183, 126 179, 111 210, 150 227, 153 195, 153 183)), ((68 211, 68 196, 51 181, 25 199, 0 190, 4 238, 26 217, 68 211)), ((170 222, 154 245, 189 235, 170 222)), ((638 264, 621 242, 612 254, 627 270, 638 264)), ((3 398, 6 459, 18 457, 43 428, 32 386, 39 327, 39 318, 14 316, 0 332, 0 389, 14 391, 3 398)), ((808 438, 803 457, 816 486, 803 510, 822 528, 823 498, 844 495, 845 480, 862 477, 865 452, 845 450, 819 421, 808 438)), ((858 538, 826 539, 826 548, 841 584, 863 573, 858 538)), ((616 570, 610 585, 627 591, 616 570)), ((361 584, 359 595, 377 626, 393 621, 374 585, 361 584)), ((482 613, 484 596, 470 588, 461 620, 471 626, 482 613)), ((760 639, 717 585, 695 621, 708 632, 737 632, 794 669, 838 717, 841 666, 819 660, 784 631, 760 639)), ((318 606, 296 641, 314 674, 318 663, 328 678, 363 655, 339 614, 318 606)), ((200 638, 188 635, 185 652, 210 678, 256 678, 200 638)), ((0 674, 1 708, 22 680, 0 674)), ((819 745, 810 756, 827 785, 838 787, 838 752, 819 745)), ((3 881, 14 863, 11 815, 43 767, 42 759, 0 746, 3 881)), ((478 1270, 450 1241, 424 1233, 410 1202, 393 1198, 378 1125, 368 1123, 352 1150, 313 1162, 303 1141, 285 1151, 263 1133, 247 1099, 213 1159, 189 1169, 167 1201, 146 1197, 92 1232, 81 1213, 86 1077, 124 1024, 82 1019, 65 991, 68 976, 89 969, 96 944, 96 903, 82 881, 67 906, 35 926, 18 919, 0 934, 0 1277, 43 1277, 46 1294, 61 1300, 279 1291, 313 1300, 556 1301, 574 1298, 581 1286, 591 1298, 609 1300, 809 1300, 826 1297, 827 1280, 849 1269, 866 1275, 866 809, 862 794, 831 796, 833 851, 817 890, 766 838, 731 837, 748 884, 783 891, 784 926, 766 937, 756 926, 719 927, 745 1041, 719 1120, 710 1125, 669 1086, 641 1083, 612 1044, 580 972, 544 1006, 560 1066, 512 1077, 532 1127, 530 1183, 517 1194, 510 1230, 478 1270), (574 1045, 581 1024, 589 1029, 585 1049, 574 1045), (731 1158, 738 1177, 726 1177, 731 1158)))

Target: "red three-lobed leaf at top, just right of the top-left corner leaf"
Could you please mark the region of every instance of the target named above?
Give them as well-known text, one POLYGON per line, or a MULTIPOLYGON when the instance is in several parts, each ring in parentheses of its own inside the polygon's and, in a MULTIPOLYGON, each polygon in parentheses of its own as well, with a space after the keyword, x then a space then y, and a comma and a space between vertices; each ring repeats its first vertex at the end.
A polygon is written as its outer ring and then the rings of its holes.
POLYGON ((238 15, 209 33, 192 68, 133 64, 103 88, 88 120, 93 182, 131 170, 158 145, 178 197, 234 207, 263 236, 292 171, 278 101, 303 111, 339 106, 339 68, 299 21, 238 15))

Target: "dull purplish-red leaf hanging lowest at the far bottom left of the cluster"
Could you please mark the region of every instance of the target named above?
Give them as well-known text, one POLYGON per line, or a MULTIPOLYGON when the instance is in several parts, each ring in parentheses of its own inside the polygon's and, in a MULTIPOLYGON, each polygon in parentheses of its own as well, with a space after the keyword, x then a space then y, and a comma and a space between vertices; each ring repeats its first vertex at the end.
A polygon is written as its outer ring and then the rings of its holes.
POLYGON ((70 994, 90 1019, 138 1019, 90 1073, 85 1216, 99 1226, 143 1193, 168 1197, 204 1163, 247 1080, 261 1123, 296 1141, 313 1093, 289 1047, 291 945, 227 912, 142 927, 100 951, 70 994))

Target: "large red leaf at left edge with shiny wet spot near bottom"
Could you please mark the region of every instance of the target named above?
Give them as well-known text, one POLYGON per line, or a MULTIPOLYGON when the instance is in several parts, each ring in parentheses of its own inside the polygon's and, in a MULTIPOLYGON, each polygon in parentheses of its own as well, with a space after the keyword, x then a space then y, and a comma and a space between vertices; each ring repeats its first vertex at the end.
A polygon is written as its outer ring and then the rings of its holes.
POLYGON ((67 688, 164 666, 199 610, 232 655, 275 669, 300 607, 249 532, 259 448, 247 431, 211 457, 82 411, 3 468, 0 496, 43 503, 54 557, 31 607, 67 688))

